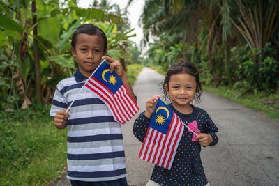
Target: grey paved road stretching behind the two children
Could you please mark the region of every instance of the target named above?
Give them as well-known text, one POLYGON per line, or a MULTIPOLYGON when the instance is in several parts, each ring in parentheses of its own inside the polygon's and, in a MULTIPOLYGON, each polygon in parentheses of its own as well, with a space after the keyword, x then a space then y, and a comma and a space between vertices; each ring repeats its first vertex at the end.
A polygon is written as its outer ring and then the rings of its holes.
MULTIPOLYGON (((133 89, 140 112, 146 98, 160 95, 163 75, 144 68, 133 89)), ((202 162, 211 186, 279 185, 279 123, 257 111, 225 98, 203 92, 202 104, 216 123, 219 143, 202 148, 202 162)), ((140 112, 138 114, 140 114, 140 112)), ((138 116, 135 116, 135 118, 138 116)), ((140 160, 141 143, 133 136, 133 121, 123 125, 128 185, 145 185, 153 165, 140 160)), ((52 185, 69 185, 65 179, 52 185)))

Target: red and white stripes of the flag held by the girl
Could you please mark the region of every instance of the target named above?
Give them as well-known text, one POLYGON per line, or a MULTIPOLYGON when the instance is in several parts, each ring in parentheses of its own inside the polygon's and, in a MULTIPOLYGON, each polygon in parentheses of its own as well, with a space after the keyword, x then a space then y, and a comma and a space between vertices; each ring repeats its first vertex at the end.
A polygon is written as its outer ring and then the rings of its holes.
POLYGON ((176 149, 184 130, 181 119, 173 111, 172 115, 167 134, 149 127, 139 155, 142 160, 163 166, 166 169, 172 167, 176 149))

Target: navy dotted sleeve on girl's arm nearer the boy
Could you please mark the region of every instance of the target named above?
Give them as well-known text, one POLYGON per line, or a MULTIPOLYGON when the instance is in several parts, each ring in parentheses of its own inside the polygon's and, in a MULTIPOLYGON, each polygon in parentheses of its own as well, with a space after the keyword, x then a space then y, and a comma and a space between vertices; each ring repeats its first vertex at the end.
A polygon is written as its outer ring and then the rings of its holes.
POLYGON ((144 137, 148 130, 150 121, 151 119, 147 118, 144 115, 144 112, 142 112, 140 116, 137 119, 135 119, 134 126, 133 126, 133 134, 141 142, 144 141, 144 137))

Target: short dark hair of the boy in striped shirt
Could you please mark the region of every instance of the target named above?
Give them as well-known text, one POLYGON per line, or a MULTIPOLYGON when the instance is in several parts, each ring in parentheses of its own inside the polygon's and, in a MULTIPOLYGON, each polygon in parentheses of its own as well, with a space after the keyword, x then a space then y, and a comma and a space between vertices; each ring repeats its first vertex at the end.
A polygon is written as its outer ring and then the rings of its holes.
POLYGON ((98 35, 104 40, 104 52, 107 50, 107 36, 105 33, 94 24, 82 24, 82 26, 78 27, 77 30, 73 33, 71 45, 73 49, 75 49, 75 42, 77 42, 77 36, 80 33, 86 33, 89 35, 98 35))

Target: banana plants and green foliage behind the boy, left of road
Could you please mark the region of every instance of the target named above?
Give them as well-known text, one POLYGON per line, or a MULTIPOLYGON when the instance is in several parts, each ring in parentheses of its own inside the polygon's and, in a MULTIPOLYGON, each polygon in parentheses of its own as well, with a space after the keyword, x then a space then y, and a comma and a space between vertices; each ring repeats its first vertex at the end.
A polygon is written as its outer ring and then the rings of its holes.
POLYGON ((0 11, 0 109, 51 103, 56 84, 77 68, 70 38, 81 24, 105 32, 107 55, 124 68, 142 61, 127 13, 109 1, 79 8, 76 0, 5 0, 0 11))

